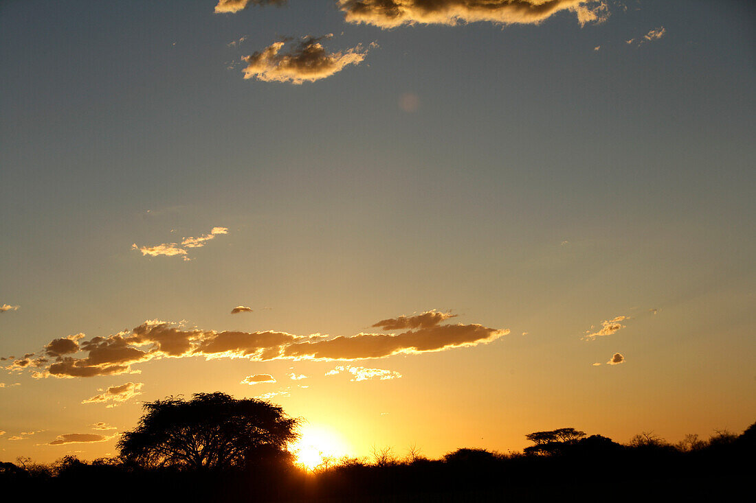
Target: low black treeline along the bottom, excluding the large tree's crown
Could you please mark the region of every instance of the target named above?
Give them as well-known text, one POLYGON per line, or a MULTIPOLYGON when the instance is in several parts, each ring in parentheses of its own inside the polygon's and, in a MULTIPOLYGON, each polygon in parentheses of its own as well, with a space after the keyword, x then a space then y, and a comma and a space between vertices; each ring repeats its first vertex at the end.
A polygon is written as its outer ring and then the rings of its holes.
POLYGON ((756 423, 742 434, 688 435, 678 443, 644 432, 621 444, 573 428, 526 437, 534 445, 524 452, 457 449, 429 459, 414 448, 401 458, 374 449, 370 458, 326 458, 314 470, 290 458, 225 469, 20 458, 2 464, 0 487, 5 496, 35 501, 64 494, 77 501, 701 501, 748 489, 756 453, 756 423))

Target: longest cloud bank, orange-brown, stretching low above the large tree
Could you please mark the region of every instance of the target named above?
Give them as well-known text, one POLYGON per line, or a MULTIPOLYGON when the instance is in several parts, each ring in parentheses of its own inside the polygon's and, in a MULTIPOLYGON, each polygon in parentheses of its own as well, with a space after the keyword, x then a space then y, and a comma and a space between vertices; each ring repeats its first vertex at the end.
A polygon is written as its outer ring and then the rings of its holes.
MULTIPOLYGON (((215 332, 184 330, 173 323, 150 320, 131 331, 88 341, 71 338, 55 339, 45 348, 76 342, 76 353, 59 353, 54 360, 19 360, 6 367, 36 370, 33 377, 57 378, 119 375, 132 370, 137 363, 163 358, 201 356, 244 358, 247 360, 365 360, 395 354, 421 354, 488 344, 507 335, 509 329, 491 329, 477 323, 440 325, 448 313, 429 311, 416 316, 398 316, 377 322, 376 326, 411 327, 398 334, 359 333, 350 336, 293 335, 287 332, 215 332), (58 341, 57 343, 55 341, 58 341), (55 344, 54 344, 55 343, 55 344), (79 353, 85 353, 79 356, 79 353)), ((79 335, 74 336, 76 338, 79 335)), ((64 350, 73 350, 64 347, 64 350)), ((107 396, 107 392, 103 393, 107 396)), ((112 394, 112 393, 110 393, 112 394)), ((100 395, 98 395, 100 397, 100 395)), ((97 397, 92 397, 91 401, 97 397)))

